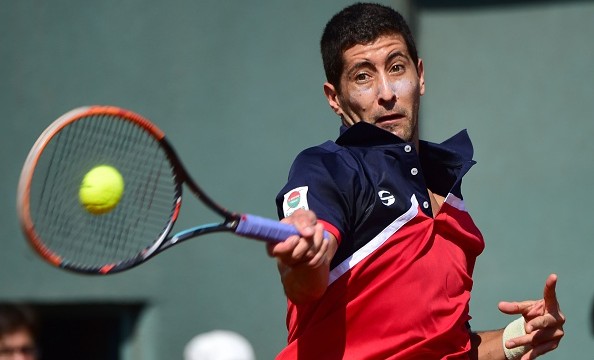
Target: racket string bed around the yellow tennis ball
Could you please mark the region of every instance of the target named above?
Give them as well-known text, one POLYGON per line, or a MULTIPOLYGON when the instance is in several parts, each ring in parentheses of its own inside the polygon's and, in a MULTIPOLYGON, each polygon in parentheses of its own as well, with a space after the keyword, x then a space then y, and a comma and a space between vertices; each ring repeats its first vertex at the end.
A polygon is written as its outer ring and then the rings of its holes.
POLYGON ((41 152, 30 211, 50 251, 76 266, 101 267, 134 259, 160 239, 178 196, 157 139, 131 121, 89 116, 61 129, 41 152), (114 210, 93 215, 80 204, 78 191, 98 165, 118 169, 125 188, 114 210))

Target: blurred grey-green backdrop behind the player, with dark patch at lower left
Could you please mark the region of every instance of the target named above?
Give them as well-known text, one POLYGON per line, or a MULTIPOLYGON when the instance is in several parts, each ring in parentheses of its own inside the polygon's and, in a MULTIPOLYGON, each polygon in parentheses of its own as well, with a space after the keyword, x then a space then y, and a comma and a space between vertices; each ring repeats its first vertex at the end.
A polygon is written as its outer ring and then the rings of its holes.
MULTIPOLYGON (((49 123, 110 104, 157 123, 224 206, 275 217, 294 156, 338 134, 318 41, 351 3, 2 2, 0 302, 35 307, 45 359, 180 359, 212 329, 242 334, 258 359, 282 349, 285 299, 262 243, 210 235, 125 273, 67 273, 25 242, 16 187, 49 123)), ((475 145, 464 195, 487 247, 473 328, 505 326, 497 303, 541 298, 555 272, 568 322, 545 358, 593 359, 594 2, 381 3, 409 19, 425 61, 421 136, 439 142, 467 128, 475 145)), ((202 213, 188 195, 177 228, 202 213)))

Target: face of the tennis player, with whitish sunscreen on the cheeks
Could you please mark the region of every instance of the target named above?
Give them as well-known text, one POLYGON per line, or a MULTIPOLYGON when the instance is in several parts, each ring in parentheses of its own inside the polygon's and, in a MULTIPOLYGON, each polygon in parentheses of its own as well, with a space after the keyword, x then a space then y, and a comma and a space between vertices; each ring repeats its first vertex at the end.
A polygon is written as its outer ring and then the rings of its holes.
POLYGON ((343 60, 340 87, 324 84, 328 103, 343 123, 364 121, 416 142, 419 98, 425 93, 423 62, 413 63, 402 36, 355 45, 343 60))

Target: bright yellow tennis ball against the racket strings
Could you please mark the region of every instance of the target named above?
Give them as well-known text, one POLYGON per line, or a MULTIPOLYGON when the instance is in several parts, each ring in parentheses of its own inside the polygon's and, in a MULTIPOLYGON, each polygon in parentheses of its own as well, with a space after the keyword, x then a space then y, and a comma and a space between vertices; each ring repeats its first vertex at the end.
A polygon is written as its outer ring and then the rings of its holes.
POLYGON ((91 214, 113 210, 124 194, 124 178, 114 167, 99 165, 91 169, 80 184, 78 198, 91 214))

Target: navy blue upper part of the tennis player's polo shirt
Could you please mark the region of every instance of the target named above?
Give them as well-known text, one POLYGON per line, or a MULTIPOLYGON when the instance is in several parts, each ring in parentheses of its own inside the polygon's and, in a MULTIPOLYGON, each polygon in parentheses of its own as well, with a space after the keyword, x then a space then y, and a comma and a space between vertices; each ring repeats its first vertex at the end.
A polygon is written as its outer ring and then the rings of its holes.
POLYGON ((474 164, 466 131, 442 144, 421 141, 419 147, 417 154, 413 143, 364 122, 342 127, 335 143, 297 156, 276 199, 279 217, 284 194, 308 186, 309 209, 341 234, 334 268, 410 209, 413 195, 429 217, 427 188, 462 199, 462 176, 474 164))

